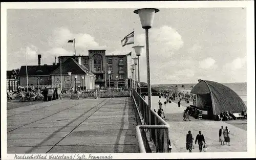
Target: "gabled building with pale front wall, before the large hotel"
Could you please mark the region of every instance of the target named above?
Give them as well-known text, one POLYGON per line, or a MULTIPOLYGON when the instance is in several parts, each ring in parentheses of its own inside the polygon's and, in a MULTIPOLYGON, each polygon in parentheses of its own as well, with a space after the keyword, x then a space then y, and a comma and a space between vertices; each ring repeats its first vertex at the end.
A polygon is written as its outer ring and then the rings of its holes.
POLYGON ((75 87, 83 89, 95 88, 95 75, 91 73, 86 66, 79 64, 75 59, 68 58, 61 63, 61 78, 60 78, 60 65, 51 74, 51 84, 60 85, 62 89, 69 89, 75 87), (69 76, 69 72, 71 75, 69 76), (77 78, 75 78, 77 76, 77 78))

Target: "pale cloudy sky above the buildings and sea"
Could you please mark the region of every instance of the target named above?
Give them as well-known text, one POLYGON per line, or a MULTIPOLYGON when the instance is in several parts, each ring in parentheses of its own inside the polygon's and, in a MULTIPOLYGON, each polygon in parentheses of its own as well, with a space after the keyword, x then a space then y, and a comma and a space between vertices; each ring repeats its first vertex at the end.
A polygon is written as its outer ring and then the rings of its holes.
MULTIPOLYGON (((149 30, 153 84, 246 82, 246 8, 159 8, 149 30)), ((135 45, 145 34, 134 9, 9 9, 7 11, 7 70, 52 64, 55 56, 104 49, 107 55, 127 54, 133 45, 121 39, 135 30, 135 45)), ((131 57, 129 58, 131 61, 131 57)), ((140 56, 141 80, 146 82, 145 49, 140 56)), ((130 65, 131 63, 129 63, 130 65)), ((130 74, 130 72, 129 72, 130 74)))

